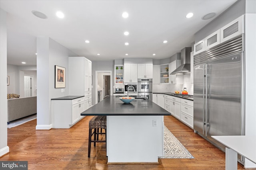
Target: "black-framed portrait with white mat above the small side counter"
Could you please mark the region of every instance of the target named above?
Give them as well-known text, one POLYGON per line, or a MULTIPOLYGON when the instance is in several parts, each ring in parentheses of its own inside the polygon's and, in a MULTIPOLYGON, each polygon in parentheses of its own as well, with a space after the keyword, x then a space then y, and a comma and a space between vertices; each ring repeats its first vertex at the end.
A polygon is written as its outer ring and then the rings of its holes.
POLYGON ((66 87, 66 68, 55 65, 55 88, 66 87))

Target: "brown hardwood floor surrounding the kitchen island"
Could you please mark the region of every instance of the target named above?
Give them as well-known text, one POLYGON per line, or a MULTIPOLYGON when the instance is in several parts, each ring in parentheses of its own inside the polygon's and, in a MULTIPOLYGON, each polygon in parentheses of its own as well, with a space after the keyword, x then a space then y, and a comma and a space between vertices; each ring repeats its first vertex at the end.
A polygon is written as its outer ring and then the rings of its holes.
MULTIPOLYGON (((36 119, 8 129, 10 152, 0 160, 28 161, 32 170, 208 170, 225 169, 225 153, 172 116, 164 124, 194 159, 159 159, 159 164, 107 164, 105 143, 92 146, 88 158, 86 116, 70 129, 35 130, 36 119)), ((238 170, 244 169, 238 163, 238 170)))

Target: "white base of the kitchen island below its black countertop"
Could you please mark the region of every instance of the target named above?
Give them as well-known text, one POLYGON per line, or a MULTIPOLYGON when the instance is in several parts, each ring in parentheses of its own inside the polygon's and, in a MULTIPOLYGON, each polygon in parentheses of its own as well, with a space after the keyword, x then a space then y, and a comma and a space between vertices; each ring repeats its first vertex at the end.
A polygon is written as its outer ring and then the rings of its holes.
POLYGON ((107 116, 108 164, 157 164, 164 152, 163 127, 163 115, 107 116))

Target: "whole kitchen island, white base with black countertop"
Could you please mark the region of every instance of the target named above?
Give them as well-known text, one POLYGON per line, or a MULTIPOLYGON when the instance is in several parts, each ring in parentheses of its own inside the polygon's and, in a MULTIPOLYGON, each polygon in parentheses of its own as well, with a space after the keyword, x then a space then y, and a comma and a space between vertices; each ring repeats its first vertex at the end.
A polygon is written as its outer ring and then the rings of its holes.
POLYGON ((164 150, 164 115, 162 107, 141 96, 124 104, 110 96, 81 115, 107 116, 108 163, 158 163, 164 150))

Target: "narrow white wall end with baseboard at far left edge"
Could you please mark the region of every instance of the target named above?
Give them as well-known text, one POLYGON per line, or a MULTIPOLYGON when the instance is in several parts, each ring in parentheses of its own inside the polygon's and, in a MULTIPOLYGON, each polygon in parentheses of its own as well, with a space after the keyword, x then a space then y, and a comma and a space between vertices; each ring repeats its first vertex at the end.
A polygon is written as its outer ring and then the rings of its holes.
POLYGON ((6 12, 0 8, 0 156, 9 152, 7 146, 7 28, 6 12))

